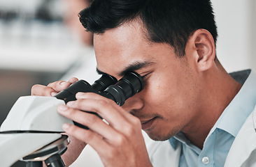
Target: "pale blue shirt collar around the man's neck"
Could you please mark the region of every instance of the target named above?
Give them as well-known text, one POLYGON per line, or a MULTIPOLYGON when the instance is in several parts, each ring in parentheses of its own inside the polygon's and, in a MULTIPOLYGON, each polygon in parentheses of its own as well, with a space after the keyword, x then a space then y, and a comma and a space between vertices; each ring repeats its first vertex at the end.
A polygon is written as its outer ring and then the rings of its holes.
MULTIPOLYGON (((216 128, 219 128, 236 137, 243 125, 243 122, 246 121, 246 118, 255 107, 256 73, 251 70, 245 70, 241 72, 234 72, 231 75, 236 81, 243 84, 243 86, 232 102, 227 106, 225 111, 222 112, 222 115, 217 120, 208 136, 211 135, 216 128)), ((178 141, 187 143, 186 138, 180 138, 180 133, 178 133, 176 137, 169 139, 169 143, 173 149, 177 148, 178 141)))

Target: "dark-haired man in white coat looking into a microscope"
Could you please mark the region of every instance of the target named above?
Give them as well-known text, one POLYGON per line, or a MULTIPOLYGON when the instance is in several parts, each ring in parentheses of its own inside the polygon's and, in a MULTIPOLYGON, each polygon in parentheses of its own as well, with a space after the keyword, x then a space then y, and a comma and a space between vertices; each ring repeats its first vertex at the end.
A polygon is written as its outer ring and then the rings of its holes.
MULTIPOLYGON (((210 1, 94 0, 80 22, 94 33, 99 74, 120 79, 135 71, 145 86, 122 107, 94 93, 59 106, 60 114, 90 128, 63 126, 79 140, 71 141, 67 164, 83 141, 104 166, 253 166, 256 74, 234 73, 240 84, 216 58, 210 1), (141 129, 159 141, 148 152, 141 129)), ((55 95, 75 81, 36 85, 32 95, 55 95)))

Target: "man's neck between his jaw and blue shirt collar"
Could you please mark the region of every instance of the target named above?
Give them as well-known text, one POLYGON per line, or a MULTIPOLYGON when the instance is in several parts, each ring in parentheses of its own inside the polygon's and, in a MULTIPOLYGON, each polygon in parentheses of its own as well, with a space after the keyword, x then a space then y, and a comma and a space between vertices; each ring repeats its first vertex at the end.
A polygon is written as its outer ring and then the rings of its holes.
POLYGON ((204 88, 206 93, 201 95, 200 109, 193 121, 182 132, 198 148, 203 148, 204 141, 215 122, 241 89, 241 84, 236 82, 225 72, 218 68, 204 74, 204 88))

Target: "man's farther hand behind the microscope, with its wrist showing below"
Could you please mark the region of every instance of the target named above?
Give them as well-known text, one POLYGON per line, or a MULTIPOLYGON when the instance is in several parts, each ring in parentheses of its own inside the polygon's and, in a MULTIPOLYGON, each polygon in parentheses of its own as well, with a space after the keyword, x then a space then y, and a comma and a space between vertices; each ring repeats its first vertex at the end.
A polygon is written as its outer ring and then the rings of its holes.
MULTIPOLYGON (((71 84, 78 81, 77 78, 71 78, 69 81, 55 81, 48 84, 48 86, 43 85, 34 85, 31 88, 31 95, 40 95, 40 96, 54 96, 65 88, 69 87, 71 84)), ((86 143, 83 141, 78 141, 76 138, 69 136, 69 145, 68 150, 62 155, 66 166, 69 166, 75 161, 79 154, 85 148, 86 143)))

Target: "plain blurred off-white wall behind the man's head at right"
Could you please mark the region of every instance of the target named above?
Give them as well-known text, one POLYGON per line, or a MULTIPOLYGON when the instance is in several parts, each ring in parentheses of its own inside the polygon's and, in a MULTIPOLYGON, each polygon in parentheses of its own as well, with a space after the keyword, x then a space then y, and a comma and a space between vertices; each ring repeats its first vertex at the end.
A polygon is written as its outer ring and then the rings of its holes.
POLYGON ((217 56, 228 72, 256 70, 255 0, 212 0, 218 26, 217 56))

